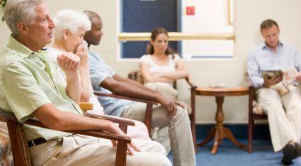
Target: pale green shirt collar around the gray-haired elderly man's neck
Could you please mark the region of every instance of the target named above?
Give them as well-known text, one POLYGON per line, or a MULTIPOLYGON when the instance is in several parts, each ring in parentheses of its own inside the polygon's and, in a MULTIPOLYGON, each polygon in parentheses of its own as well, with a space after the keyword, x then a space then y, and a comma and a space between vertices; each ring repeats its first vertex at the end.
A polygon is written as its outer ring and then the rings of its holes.
POLYGON ((11 35, 9 36, 8 39, 8 48, 11 50, 14 50, 16 52, 19 52, 19 54, 22 58, 28 57, 30 55, 37 55, 37 54, 45 54, 46 49, 42 48, 41 50, 38 50, 38 52, 34 52, 27 48, 25 45, 22 43, 18 42, 15 38, 13 38, 11 35))

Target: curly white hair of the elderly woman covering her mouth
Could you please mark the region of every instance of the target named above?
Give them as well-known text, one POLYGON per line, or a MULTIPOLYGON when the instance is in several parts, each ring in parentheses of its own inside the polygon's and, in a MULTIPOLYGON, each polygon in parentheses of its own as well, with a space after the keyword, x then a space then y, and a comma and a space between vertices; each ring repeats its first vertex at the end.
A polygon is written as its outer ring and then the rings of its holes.
POLYGON ((89 17, 82 11, 74 11, 71 9, 64 9, 59 11, 55 18, 55 39, 62 39, 64 30, 71 33, 76 33, 79 28, 84 28, 84 31, 91 30, 91 21, 89 17))

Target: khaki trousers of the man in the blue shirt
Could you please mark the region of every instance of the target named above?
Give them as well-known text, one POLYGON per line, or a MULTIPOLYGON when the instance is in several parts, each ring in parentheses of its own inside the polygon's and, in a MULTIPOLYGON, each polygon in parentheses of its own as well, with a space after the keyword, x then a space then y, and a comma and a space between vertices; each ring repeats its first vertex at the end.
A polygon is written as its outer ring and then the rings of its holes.
MULTIPOLYGON (((136 103, 123 111, 124 118, 144 121, 146 104, 136 103)), ((164 128, 169 126, 169 138, 174 165, 195 165, 193 138, 187 110, 177 106, 176 115, 167 116, 163 106, 154 106, 152 111, 152 127, 164 128)))

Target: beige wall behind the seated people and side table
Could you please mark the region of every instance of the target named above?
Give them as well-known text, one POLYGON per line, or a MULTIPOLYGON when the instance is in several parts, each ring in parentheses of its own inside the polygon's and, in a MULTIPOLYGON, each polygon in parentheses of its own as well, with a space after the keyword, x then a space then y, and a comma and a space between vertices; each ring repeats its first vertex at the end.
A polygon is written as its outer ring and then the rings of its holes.
MULTIPOLYGON (((183 0, 186 1, 186 0, 183 0)), ((48 1, 50 11, 54 15, 61 9, 89 9, 101 14, 104 22, 103 40, 101 45, 92 50, 99 52, 116 72, 126 76, 128 72, 136 70, 138 62, 135 60, 118 60, 119 44, 119 1, 118 0, 51 0, 48 1), (64 2, 64 3, 62 3, 64 2)), ((301 1, 300 0, 237 0, 235 5, 236 20, 234 33, 234 58, 229 60, 193 60, 185 61, 191 73, 193 82, 206 85, 217 82, 227 84, 246 85, 243 74, 246 71, 246 55, 255 45, 261 43, 259 24, 263 19, 273 18, 280 25, 280 39, 295 45, 301 50, 301 1)), ((8 28, 0 23, 0 44, 4 45, 8 38, 8 28)), ((1 48, 2 50, 2 48, 1 48)), ((190 96, 187 85, 179 82, 181 99, 188 101, 190 96)), ((215 100, 213 97, 198 96, 196 99, 198 123, 213 123, 215 118, 215 100)), ((247 122, 247 97, 226 97, 224 103, 226 123, 247 122)))

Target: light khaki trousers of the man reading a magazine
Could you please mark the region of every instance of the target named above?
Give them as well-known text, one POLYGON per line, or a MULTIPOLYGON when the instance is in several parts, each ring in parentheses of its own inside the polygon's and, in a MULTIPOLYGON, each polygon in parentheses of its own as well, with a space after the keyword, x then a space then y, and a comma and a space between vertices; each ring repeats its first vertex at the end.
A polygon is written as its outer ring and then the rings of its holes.
POLYGON ((290 141, 300 143, 301 99, 295 89, 281 96, 271 88, 261 88, 256 92, 259 106, 268 115, 273 148, 277 152, 290 141))

